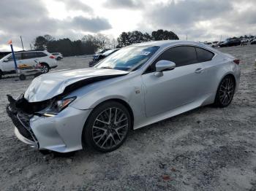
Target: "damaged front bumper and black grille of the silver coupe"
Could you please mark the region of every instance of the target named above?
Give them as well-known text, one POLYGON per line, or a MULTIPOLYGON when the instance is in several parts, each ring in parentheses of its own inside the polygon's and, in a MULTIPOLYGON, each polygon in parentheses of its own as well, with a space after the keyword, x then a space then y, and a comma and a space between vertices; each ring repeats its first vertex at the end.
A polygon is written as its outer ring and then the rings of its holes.
POLYGON ((83 149, 83 126, 91 109, 80 110, 68 106, 53 117, 26 114, 10 101, 7 114, 15 125, 15 136, 36 149, 72 152, 83 149))

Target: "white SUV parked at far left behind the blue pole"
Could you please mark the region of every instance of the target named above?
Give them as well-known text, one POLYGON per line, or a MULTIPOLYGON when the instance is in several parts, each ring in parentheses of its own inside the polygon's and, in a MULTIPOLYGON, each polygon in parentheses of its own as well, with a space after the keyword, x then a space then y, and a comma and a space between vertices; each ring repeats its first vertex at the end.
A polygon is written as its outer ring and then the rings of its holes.
MULTIPOLYGON (((57 62, 55 56, 47 51, 24 51, 15 52, 17 66, 35 66, 40 63, 42 72, 48 73, 50 69, 56 68, 57 62)), ((12 58, 12 53, 4 56, 0 60, 0 79, 5 74, 15 74, 15 63, 12 58)))

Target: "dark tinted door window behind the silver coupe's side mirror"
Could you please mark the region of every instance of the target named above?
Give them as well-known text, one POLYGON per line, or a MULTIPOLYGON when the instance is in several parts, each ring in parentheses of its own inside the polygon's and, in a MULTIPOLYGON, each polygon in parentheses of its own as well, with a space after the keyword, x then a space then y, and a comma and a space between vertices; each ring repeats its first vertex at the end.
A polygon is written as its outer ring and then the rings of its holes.
POLYGON ((186 66, 192 63, 197 63, 197 54, 195 52, 195 47, 181 46, 170 48, 159 55, 154 63, 152 63, 146 70, 146 73, 156 71, 156 63, 162 60, 172 61, 176 63, 176 67, 186 66))

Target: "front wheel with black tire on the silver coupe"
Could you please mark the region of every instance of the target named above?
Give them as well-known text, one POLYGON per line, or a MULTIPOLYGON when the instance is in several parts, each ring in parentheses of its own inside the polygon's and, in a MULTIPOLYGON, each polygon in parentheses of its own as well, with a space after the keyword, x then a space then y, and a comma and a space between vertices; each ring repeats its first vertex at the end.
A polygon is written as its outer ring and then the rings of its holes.
POLYGON ((131 125, 127 108, 116 101, 108 101, 94 108, 89 115, 83 141, 99 152, 111 152, 127 139, 131 125))

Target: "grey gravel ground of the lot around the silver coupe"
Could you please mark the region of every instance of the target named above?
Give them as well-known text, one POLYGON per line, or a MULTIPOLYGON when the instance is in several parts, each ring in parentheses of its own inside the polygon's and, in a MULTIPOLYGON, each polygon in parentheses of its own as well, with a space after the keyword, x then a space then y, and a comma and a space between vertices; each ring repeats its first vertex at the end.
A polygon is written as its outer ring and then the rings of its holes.
MULTIPOLYGON (((116 151, 42 155, 15 138, 6 94, 31 79, 0 80, 0 190, 256 190, 256 46, 222 48, 241 59, 241 84, 225 109, 205 106, 129 133, 116 151)), ((87 67, 70 57, 58 69, 87 67)))

